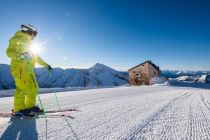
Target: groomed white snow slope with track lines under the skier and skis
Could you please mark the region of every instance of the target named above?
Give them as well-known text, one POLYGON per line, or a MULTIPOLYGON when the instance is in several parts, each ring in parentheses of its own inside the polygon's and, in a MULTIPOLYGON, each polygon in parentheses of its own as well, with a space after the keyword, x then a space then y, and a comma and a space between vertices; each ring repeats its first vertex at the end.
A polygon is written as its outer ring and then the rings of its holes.
MULTIPOLYGON (((47 109, 53 94, 41 95, 47 109)), ((210 91, 175 87, 121 87, 58 93, 72 118, 0 118, 0 140, 210 139, 210 91)), ((13 98, 1 98, 0 111, 13 98), (7 99, 8 102, 5 102, 7 99)))

